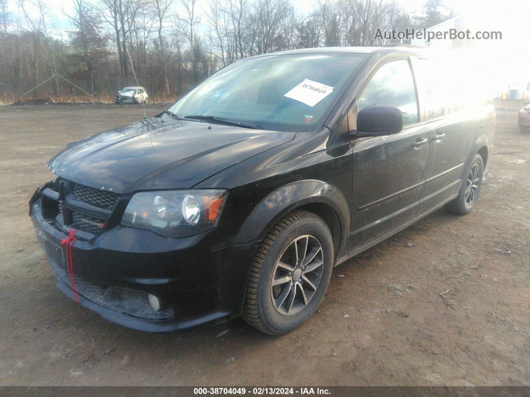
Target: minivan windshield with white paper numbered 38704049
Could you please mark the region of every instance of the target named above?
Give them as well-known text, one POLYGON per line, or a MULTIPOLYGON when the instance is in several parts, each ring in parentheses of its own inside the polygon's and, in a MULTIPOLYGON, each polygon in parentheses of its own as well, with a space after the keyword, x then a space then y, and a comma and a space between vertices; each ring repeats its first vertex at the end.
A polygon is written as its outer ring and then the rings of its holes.
POLYGON ((214 116, 264 129, 310 131, 366 54, 272 55, 237 61, 198 84, 169 110, 178 117, 214 116))

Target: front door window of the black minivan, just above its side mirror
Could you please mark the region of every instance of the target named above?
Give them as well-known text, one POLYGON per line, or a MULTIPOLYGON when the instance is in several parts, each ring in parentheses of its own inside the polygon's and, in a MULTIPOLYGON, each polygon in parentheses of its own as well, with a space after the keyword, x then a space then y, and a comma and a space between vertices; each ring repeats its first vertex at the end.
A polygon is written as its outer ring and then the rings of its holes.
POLYGON ((403 125, 420 121, 416 87, 408 60, 394 60, 377 70, 359 96, 359 110, 369 105, 390 105, 403 112, 403 125))

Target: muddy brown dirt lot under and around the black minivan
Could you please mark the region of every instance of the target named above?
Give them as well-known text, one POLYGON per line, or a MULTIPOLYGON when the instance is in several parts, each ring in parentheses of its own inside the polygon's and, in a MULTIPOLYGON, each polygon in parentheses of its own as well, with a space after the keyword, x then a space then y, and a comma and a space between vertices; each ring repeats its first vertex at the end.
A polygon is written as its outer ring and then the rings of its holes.
POLYGON ((63 296, 28 200, 68 142, 142 110, 1 107, 0 384, 530 384, 530 133, 518 130, 517 107, 498 109, 493 160, 471 215, 439 210, 335 268, 319 312, 282 337, 240 320, 146 334, 63 296))

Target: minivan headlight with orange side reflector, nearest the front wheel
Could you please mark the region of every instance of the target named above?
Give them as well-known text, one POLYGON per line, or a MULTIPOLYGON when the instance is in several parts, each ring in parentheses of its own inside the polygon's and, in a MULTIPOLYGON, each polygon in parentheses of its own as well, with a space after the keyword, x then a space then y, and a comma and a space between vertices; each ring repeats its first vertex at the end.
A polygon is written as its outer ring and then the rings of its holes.
POLYGON ((217 225, 226 190, 173 190, 136 193, 121 225, 151 230, 167 237, 205 232, 217 225))

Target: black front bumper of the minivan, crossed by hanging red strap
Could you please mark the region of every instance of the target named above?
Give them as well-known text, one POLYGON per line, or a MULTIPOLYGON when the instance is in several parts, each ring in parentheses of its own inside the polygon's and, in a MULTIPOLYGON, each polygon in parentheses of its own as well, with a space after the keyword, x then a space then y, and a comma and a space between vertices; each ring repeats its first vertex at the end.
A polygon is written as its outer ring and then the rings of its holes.
MULTIPOLYGON (((73 298, 60 245, 66 234, 42 216, 41 199, 33 202, 31 219, 57 287, 73 298)), ((228 321, 242 312, 258 243, 213 246, 214 231, 167 239, 122 226, 77 240, 72 258, 79 302, 109 321, 147 332, 228 321), (155 312, 147 294, 160 298, 166 310, 155 312)))

